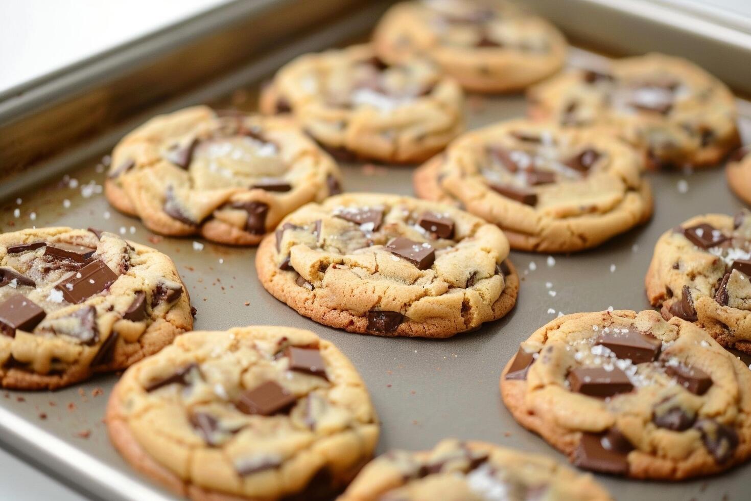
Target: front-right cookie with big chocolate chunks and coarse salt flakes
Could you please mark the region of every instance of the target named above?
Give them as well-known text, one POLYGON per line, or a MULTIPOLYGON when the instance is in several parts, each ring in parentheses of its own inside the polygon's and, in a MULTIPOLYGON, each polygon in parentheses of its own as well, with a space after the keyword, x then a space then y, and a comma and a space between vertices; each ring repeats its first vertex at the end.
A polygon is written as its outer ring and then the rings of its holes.
POLYGON ((566 315, 501 376, 523 426, 582 469, 710 475, 751 454, 751 371, 700 327, 648 310, 566 315))

